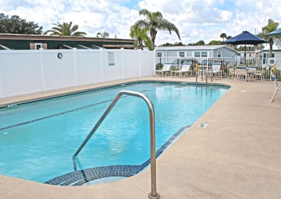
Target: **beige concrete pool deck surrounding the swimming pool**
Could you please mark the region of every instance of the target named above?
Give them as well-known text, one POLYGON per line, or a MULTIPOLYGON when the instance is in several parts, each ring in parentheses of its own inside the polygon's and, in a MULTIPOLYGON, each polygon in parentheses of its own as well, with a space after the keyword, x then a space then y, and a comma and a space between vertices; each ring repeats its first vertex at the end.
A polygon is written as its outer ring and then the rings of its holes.
MULTIPOLYGON (((0 99, 0 107, 145 80, 192 83, 195 77, 147 76, 83 85, 0 99)), ((199 80, 199 83, 203 82, 199 80)), ((281 198, 281 92, 277 92, 273 103, 269 103, 275 91, 272 81, 214 78, 211 83, 230 85, 231 88, 157 158, 157 192, 160 198, 281 198), (209 125, 198 128, 202 121, 208 121, 209 125)), ((120 181, 75 187, 40 184, 0 175, 1 199, 143 199, 148 198, 150 190, 150 167, 120 181)))

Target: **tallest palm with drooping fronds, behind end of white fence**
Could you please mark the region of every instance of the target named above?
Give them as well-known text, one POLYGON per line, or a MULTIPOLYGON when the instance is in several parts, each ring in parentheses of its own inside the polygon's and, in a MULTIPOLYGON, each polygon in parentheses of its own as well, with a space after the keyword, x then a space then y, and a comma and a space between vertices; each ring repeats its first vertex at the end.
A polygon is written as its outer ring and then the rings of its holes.
POLYGON ((155 47, 156 34, 160 30, 169 31, 170 34, 172 31, 176 32, 178 39, 181 40, 181 36, 180 36, 180 33, 178 32, 178 28, 173 23, 169 22, 168 20, 163 19, 162 13, 160 13, 159 11, 152 13, 146 9, 141 9, 141 11, 139 11, 139 14, 143 15, 147 19, 138 20, 135 23, 135 26, 141 27, 144 29, 148 29, 148 31, 150 32, 150 38, 152 41, 152 50, 155 49, 154 47, 155 47))

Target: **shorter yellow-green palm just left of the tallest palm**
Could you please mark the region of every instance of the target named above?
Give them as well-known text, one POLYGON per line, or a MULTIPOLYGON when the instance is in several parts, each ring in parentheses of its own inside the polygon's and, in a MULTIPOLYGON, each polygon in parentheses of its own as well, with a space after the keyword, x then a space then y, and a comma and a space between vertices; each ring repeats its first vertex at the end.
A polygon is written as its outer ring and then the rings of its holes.
POLYGON ((143 43, 148 47, 149 50, 152 50, 152 42, 149 38, 148 29, 142 29, 141 27, 136 27, 135 25, 130 28, 130 36, 132 39, 136 39, 138 43, 138 49, 143 50, 143 43))

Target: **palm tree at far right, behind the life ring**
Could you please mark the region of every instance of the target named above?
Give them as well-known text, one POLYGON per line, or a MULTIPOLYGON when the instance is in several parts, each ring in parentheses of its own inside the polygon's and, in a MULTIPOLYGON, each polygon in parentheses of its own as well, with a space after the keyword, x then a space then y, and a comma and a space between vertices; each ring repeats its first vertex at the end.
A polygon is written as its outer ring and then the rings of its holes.
POLYGON ((275 39, 280 38, 279 36, 263 36, 263 34, 268 34, 277 30, 279 23, 274 22, 272 19, 268 20, 268 25, 264 26, 261 30, 262 32, 259 33, 257 36, 261 37, 262 39, 269 42, 269 57, 272 57, 272 50, 273 50, 273 43, 275 39))

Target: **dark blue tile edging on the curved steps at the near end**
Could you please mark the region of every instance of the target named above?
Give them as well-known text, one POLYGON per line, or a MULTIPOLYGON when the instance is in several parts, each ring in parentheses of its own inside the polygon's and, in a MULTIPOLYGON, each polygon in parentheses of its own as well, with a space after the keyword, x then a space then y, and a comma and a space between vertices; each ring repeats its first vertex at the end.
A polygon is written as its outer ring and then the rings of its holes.
MULTIPOLYGON (((171 138, 161 146, 156 152, 156 158, 158 158, 164 150, 175 141, 178 135, 186 128, 190 128, 187 125, 178 130, 171 138)), ((46 181, 44 184, 59 185, 59 186, 81 186, 89 181, 95 179, 101 179, 105 177, 131 177, 141 172, 145 167, 150 165, 150 159, 146 160, 142 165, 110 165, 105 167, 93 167, 85 170, 79 170, 77 172, 69 172, 59 177, 55 177, 46 181)))

